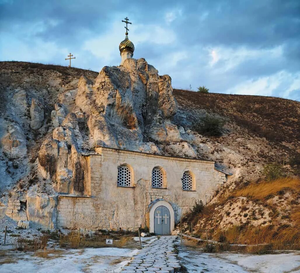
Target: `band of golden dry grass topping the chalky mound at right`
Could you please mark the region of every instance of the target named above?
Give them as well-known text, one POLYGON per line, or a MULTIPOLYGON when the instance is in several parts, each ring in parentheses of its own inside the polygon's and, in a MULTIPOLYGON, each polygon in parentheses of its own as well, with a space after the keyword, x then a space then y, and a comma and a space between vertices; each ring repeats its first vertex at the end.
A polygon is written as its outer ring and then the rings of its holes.
POLYGON ((275 195, 276 193, 290 189, 297 192, 300 191, 299 178, 279 178, 274 181, 263 181, 260 183, 252 183, 244 189, 237 190, 233 195, 244 196, 251 199, 264 199, 268 196, 275 195))

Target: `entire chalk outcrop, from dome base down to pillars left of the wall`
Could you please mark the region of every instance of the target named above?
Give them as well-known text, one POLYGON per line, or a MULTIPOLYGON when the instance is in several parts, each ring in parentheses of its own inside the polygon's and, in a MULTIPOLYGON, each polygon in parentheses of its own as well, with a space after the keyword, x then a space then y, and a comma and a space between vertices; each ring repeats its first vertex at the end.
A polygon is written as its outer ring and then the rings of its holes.
MULTIPOLYGON (((38 154, 38 169, 52 180, 55 191, 88 194, 81 128, 88 130, 91 147, 126 148, 159 153, 158 142, 179 142, 171 120, 177 111, 171 78, 159 76, 145 59, 128 59, 122 66, 105 66, 95 82, 81 77, 78 89, 60 95, 51 112, 56 127, 38 154), (87 127, 86 127, 87 126, 87 127)), ((86 136, 86 131, 83 132, 86 136)), ((29 219, 30 220, 30 219, 29 219)))

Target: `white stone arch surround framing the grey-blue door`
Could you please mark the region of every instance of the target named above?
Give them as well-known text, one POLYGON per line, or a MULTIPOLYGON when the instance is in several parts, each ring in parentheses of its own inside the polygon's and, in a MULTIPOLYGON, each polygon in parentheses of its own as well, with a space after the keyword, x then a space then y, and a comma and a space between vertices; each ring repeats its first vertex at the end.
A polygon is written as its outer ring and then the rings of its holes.
MULTIPOLYGON (((149 228, 149 232, 150 233, 154 233, 155 232, 155 219, 168 219, 168 218, 155 218, 155 212, 156 209, 158 207, 165 207, 168 212, 170 213, 170 230, 168 230, 167 234, 170 234, 173 230, 174 230, 174 226, 175 226, 175 218, 174 218, 174 210, 173 207, 171 206, 171 204, 167 201, 165 201, 164 199, 156 199, 154 201, 152 201, 147 209, 147 214, 146 214, 146 219, 147 219, 147 227, 149 228)), ((165 214, 167 213, 166 210, 164 210, 164 216, 166 216, 165 214)), ((161 210, 161 213, 163 211, 161 210)), ((156 213, 158 214, 158 213, 156 213)), ((158 216, 158 215, 156 215, 158 216)), ((168 214, 167 214, 168 216, 168 214)), ((163 217, 163 216, 161 216, 163 217)))

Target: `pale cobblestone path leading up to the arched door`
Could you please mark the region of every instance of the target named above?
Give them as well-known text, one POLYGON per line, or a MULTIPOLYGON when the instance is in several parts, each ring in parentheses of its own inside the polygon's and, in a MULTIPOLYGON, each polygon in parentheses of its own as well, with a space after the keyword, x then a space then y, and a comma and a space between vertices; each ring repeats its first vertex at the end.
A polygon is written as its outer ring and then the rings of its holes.
POLYGON ((177 236, 161 236, 136 256, 128 266, 124 266, 122 273, 173 273, 181 266, 177 260, 174 244, 177 236))

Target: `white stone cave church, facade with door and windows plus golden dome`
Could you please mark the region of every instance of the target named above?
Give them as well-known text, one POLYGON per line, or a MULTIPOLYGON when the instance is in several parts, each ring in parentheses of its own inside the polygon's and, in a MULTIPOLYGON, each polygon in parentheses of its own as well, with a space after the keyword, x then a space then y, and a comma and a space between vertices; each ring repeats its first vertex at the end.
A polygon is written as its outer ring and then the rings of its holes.
MULTIPOLYGON (((127 19, 126 19, 127 21, 127 19)), ((120 43, 121 66, 134 44, 120 43)), ((65 193, 58 185, 57 227, 117 230, 148 227, 170 234, 195 201, 207 203, 226 182, 214 161, 98 147, 82 154, 84 192, 65 193)))

